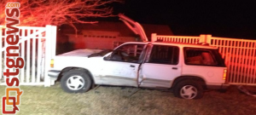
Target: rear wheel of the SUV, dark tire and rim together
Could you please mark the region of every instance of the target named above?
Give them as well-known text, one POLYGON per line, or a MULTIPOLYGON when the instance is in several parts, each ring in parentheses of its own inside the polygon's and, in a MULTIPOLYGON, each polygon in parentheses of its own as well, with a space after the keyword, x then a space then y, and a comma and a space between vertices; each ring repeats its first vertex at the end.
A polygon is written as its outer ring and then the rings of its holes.
POLYGON ((183 99, 201 99, 203 96, 202 83, 195 79, 184 79, 174 87, 174 95, 183 99))

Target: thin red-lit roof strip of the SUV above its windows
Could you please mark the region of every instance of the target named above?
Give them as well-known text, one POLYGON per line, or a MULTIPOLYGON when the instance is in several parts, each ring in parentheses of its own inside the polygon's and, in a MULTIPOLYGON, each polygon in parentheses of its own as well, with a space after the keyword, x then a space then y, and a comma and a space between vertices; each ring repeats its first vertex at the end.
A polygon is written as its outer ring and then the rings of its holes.
MULTIPOLYGON (((193 48, 203 48, 203 49, 218 49, 214 46, 202 45, 202 44, 192 44, 192 43, 164 43, 164 42, 127 42, 127 43, 139 43, 139 44, 160 44, 160 45, 175 45, 178 47, 193 47, 193 48)), ((124 43, 126 44, 126 43, 124 43)))

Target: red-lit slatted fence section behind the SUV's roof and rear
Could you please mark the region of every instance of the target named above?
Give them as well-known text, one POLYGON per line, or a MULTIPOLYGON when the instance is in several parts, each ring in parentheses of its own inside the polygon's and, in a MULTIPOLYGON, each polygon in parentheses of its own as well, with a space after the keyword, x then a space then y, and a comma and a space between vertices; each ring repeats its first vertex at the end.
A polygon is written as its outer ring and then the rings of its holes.
POLYGON ((163 36, 152 34, 151 41, 176 43, 208 43, 219 49, 228 67, 227 82, 230 84, 256 85, 256 40, 212 37, 163 36))

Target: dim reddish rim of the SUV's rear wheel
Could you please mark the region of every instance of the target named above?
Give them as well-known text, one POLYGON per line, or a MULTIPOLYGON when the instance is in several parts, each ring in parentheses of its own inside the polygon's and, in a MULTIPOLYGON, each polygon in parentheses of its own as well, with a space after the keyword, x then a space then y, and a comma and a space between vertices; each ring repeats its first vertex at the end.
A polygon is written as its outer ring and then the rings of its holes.
POLYGON ((197 89, 192 85, 185 85, 180 89, 180 95, 183 99, 194 99, 197 93, 197 89))

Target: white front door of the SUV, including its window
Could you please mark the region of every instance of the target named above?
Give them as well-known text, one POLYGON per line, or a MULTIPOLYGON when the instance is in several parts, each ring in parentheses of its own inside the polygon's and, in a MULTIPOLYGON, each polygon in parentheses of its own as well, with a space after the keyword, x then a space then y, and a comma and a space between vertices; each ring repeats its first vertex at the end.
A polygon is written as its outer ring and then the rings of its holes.
POLYGON ((124 44, 104 58, 102 84, 137 87, 137 72, 143 61, 145 44, 124 44))

